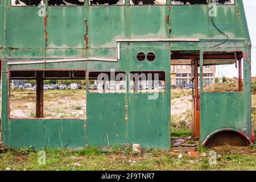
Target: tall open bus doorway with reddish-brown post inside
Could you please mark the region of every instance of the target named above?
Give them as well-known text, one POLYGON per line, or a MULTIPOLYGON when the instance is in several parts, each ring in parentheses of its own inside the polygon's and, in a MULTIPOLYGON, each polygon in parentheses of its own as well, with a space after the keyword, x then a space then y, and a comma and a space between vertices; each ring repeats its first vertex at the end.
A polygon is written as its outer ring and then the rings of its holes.
POLYGON ((197 147, 199 145, 199 64, 199 51, 171 51, 172 147, 197 147))

